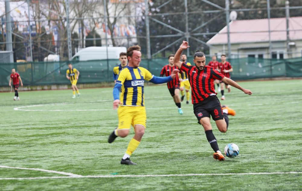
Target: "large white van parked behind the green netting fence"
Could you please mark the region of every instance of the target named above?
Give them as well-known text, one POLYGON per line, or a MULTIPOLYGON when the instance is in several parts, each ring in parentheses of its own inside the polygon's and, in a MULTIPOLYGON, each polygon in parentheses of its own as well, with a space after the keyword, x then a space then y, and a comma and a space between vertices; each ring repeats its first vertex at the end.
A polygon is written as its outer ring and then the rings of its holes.
POLYGON ((123 46, 91 46, 77 52, 72 57, 72 61, 118 59, 121 52, 127 52, 127 48, 123 46), (106 49, 108 49, 108 58, 106 49))

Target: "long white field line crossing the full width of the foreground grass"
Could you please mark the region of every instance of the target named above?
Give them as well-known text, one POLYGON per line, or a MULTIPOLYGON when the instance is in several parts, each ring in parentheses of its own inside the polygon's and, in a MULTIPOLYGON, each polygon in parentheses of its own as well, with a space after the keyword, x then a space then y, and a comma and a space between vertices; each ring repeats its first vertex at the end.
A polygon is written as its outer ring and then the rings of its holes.
POLYGON ((32 180, 59 178, 118 178, 118 177, 192 177, 192 176, 244 176, 270 174, 302 174, 302 172, 259 172, 259 173, 221 173, 221 174, 146 174, 146 175, 98 175, 98 176, 67 176, 67 177, 29 177, 29 178, 0 178, 0 180, 32 180))

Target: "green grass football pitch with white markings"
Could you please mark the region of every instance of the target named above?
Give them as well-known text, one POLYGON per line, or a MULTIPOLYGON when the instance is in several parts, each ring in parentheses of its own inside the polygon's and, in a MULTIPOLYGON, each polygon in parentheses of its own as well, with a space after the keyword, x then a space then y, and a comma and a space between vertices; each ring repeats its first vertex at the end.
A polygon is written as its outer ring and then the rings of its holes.
POLYGON ((236 110, 228 131, 212 121, 220 150, 240 149, 225 161, 213 158, 191 104, 180 115, 165 85, 146 86, 137 166, 120 164, 133 128, 107 142, 117 126, 112 88, 80 89, 76 99, 71 90, 20 91, 20 101, 0 93, 0 190, 302 190, 302 80, 239 84, 253 95, 226 93, 221 103, 236 110))

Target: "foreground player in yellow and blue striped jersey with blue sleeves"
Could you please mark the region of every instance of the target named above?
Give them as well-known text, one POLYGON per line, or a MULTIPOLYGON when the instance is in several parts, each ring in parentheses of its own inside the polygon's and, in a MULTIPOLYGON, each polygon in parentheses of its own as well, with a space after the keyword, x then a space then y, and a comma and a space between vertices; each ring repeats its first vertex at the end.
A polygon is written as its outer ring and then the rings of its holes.
POLYGON ((131 125, 134 127, 135 132, 120 164, 136 165, 130 160, 130 156, 140 144, 146 128, 144 81, 156 84, 166 83, 174 79, 179 71, 177 69, 173 70, 168 77, 156 77, 147 69, 139 67, 141 56, 139 45, 131 46, 127 49, 128 66, 120 71, 113 88, 113 108, 118 108, 118 127, 109 135, 108 142, 113 142, 117 136, 126 137, 129 134, 131 125), (120 89, 122 91, 119 97, 120 89))

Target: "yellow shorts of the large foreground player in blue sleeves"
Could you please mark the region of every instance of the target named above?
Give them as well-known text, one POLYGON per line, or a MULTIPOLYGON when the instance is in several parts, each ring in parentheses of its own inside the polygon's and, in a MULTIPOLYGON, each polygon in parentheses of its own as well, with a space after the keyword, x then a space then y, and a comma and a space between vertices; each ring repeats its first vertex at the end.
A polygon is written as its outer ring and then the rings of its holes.
POLYGON ((117 129, 130 129, 131 125, 143 125, 146 128, 147 116, 144 106, 119 106, 117 116, 117 129))

